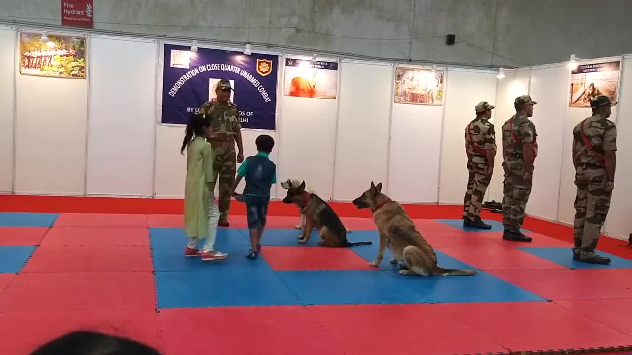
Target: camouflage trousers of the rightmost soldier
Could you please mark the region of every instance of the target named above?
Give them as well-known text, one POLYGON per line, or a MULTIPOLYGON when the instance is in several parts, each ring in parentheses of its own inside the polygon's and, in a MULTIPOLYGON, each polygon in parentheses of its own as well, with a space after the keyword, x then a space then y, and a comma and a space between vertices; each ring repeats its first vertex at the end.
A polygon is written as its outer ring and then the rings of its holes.
POLYGON ((599 165, 578 166, 575 173, 574 251, 592 254, 610 209, 612 191, 606 191, 607 172, 599 165))

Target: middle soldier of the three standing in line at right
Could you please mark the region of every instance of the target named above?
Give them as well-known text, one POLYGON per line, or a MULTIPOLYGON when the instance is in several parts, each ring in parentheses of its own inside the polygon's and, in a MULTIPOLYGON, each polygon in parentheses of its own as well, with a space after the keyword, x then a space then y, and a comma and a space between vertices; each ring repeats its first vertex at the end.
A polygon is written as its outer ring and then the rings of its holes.
POLYGON ((538 155, 533 105, 537 104, 529 95, 516 97, 516 114, 502 125, 502 168, 504 182, 502 198, 502 239, 530 242, 520 229, 525 221, 526 203, 533 184, 533 163, 538 155))

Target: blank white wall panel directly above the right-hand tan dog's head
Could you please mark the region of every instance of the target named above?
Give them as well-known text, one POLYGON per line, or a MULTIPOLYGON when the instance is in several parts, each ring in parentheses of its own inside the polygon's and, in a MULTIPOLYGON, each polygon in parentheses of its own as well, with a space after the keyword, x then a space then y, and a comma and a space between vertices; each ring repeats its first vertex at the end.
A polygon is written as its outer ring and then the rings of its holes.
POLYGON ((334 200, 353 200, 371 181, 386 183, 393 68, 384 63, 341 64, 334 200))

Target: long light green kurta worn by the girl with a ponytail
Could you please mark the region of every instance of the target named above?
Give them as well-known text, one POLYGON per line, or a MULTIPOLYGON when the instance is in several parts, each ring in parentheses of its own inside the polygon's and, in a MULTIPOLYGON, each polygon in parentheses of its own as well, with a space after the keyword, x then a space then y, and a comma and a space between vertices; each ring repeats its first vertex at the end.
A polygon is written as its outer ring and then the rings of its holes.
POLYGON ((205 238, 209 233, 208 183, 214 181, 213 149, 202 137, 186 147, 185 236, 205 238))

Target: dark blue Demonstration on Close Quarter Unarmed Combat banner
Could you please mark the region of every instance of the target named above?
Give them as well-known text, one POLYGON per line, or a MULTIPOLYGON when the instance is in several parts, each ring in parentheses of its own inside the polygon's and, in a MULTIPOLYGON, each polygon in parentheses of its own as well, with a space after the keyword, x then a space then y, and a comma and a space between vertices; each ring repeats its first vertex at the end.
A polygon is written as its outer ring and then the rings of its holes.
POLYGON ((191 113, 216 99, 221 79, 233 87, 231 102, 239 107, 242 128, 274 129, 279 57, 268 54, 164 45, 163 124, 186 124, 191 113))

